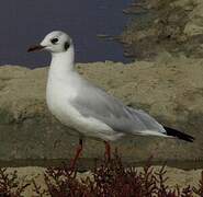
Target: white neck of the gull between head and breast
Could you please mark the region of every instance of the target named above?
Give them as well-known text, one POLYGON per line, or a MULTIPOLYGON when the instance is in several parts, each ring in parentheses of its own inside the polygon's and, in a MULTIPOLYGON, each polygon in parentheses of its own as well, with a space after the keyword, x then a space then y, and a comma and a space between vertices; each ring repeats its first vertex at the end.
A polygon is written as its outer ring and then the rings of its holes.
POLYGON ((65 53, 52 54, 49 76, 56 78, 66 78, 67 74, 75 70, 75 51, 70 46, 65 53))

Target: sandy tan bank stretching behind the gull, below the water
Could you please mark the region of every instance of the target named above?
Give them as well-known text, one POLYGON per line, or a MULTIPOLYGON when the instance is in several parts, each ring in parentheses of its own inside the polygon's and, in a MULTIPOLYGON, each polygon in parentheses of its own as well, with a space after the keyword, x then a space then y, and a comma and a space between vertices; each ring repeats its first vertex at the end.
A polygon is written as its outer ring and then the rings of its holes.
MULTIPOLYGON (((203 59, 138 61, 132 65, 79 65, 79 72, 125 104, 139 107, 160 123, 187 131, 194 143, 157 137, 123 139, 114 146, 127 160, 203 159, 203 59)), ((78 138, 47 111, 47 69, 0 67, 0 160, 66 159, 78 138)), ((102 157, 101 142, 86 140, 83 158, 102 157)))

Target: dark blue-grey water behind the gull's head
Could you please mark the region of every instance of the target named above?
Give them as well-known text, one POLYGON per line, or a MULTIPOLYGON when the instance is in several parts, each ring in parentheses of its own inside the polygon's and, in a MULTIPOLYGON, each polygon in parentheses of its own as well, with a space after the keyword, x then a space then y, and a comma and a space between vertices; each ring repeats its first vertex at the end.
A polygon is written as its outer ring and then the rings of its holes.
POLYGON ((53 30, 68 32, 75 40, 76 61, 124 61, 122 45, 97 34, 119 35, 127 22, 122 10, 133 0, 7 0, 0 8, 0 65, 30 68, 47 65, 47 54, 26 54, 53 30))

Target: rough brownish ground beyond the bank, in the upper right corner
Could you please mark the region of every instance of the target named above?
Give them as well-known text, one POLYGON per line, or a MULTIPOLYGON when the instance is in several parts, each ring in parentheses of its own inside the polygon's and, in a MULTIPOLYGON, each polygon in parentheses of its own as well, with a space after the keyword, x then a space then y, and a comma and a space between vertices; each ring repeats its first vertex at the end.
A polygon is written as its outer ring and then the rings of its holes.
POLYGON ((142 2, 128 8, 132 23, 121 35, 126 56, 136 60, 154 60, 162 53, 173 57, 203 57, 202 0, 142 2))

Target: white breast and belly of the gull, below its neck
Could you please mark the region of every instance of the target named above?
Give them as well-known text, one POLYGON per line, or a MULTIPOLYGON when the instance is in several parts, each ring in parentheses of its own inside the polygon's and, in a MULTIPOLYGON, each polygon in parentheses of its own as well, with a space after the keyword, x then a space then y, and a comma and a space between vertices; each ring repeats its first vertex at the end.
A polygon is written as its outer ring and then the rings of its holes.
MULTIPOLYGON (((70 83, 70 81, 67 82, 70 83)), ((74 89, 72 85, 64 84, 67 83, 49 79, 46 90, 48 108, 60 123, 78 130, 84 136, 103 140, 115 140, 122 135, 116 134, 106 124, 93 117, 83 117, 69 102, 77 96, 77 89, 74 89)))

